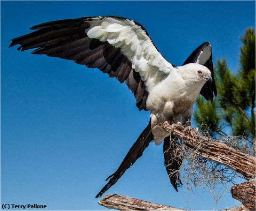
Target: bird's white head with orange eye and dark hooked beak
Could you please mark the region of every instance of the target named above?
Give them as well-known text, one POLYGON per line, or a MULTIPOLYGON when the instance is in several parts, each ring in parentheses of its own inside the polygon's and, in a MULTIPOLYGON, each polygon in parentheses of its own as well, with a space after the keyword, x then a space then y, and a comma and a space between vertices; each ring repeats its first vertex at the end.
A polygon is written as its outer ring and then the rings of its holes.
POLYGON ((178 72, 185 80, 192 82, 206 83, 212 81, 211 71, 198 63, 190 63, 178 68, 178 72))

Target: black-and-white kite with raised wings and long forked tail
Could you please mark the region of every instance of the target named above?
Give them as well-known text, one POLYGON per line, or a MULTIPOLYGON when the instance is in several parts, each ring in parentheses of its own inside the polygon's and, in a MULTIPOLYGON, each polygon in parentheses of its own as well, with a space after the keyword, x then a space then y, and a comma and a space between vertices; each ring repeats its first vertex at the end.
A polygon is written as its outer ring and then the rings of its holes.
POLYGON ((211 102, 217 95, 210 42, 199 45, 181 66, 176 66, 161 55, 142 24, 125 17, 81 17, 41 23, 30 29, 35 31, 13 38, 9 47, 20 45, 20 51, 35 48, 32 54, 98 68, 126 83, 139 111, 150 111, 148 125, 96 198, 120 179, 149 143, 159 145, 162 141, 169 180, 178 191, 182 186, 182 159, 174 151, 179 141, 158 125, 189 122, 199 94, 211 102))

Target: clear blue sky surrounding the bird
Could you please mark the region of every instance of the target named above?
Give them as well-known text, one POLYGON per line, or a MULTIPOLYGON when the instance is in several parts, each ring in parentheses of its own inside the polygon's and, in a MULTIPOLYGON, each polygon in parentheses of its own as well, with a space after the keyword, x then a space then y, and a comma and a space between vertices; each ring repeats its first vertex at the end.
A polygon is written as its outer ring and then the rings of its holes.
MULTIPOLYGON (((49 210, 104 210, 95 199, 149 120, 125 84, 72 61, 8 49, 10 39, 52 20, 120 15, 144 25, 160 52, 181 65, 202 42, 213 60, 239 67, 239 36, 255 26, 254 1, 1 1, 1 203, 49 210)), ((210 210, 208 192, 178 193, 162 145, 153 143, 106 194, 210 210)), ((240 204, 227 193, 216 209, 240 204)))

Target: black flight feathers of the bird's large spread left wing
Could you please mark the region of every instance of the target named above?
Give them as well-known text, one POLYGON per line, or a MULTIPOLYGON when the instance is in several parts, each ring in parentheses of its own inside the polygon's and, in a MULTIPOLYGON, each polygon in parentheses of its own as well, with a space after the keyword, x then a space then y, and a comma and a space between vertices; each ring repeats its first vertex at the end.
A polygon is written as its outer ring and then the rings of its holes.
MULTIPOLYGON (((106 17, 126 19, 119 16, 106 17)), ((139 110, 147 110, 148 93, 145 90, 144 82, 139 73, 132 68, 127 56, 120 51, 120 48, 116 48, 108 42, 88 38, 85 30, 90 27, 91 18, 51 21, 32 26, 30 29, 36 31, 12 39, 9 47, 20 45, 18 50, 21 51, 36 48, 32 52, 33 54, 45 54, 73 60, 88 68, 99 68, 110 77, 116 77, 120 83, 126 81, 128 88, 134 93, 139 110)), ((141 24, 136 24, 142 27, 141 24)), ((142 29, 145 30, 143 27, 142 29)))

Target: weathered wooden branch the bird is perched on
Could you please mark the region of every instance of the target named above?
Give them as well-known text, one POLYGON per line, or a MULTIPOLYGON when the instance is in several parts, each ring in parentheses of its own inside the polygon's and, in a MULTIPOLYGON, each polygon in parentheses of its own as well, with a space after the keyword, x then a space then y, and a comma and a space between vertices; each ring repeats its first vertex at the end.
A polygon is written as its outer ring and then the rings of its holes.
POLYGON ((184 128, 180 124, 162 124, 160 128, 183 140, 189 150, 196 149, 197 154, 235 170, 246 179, 251 179, 255 175, 256 166, 253 156, 237 151, 224 143, 200 136, 194 128, 184 128))

